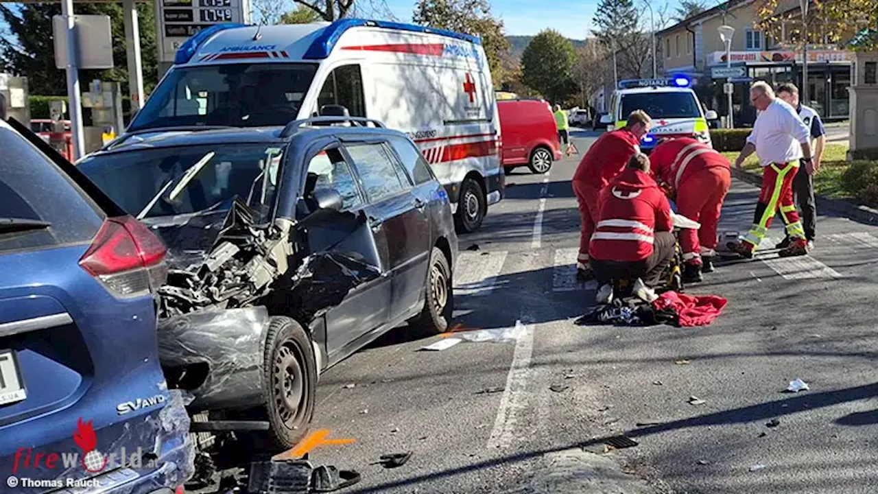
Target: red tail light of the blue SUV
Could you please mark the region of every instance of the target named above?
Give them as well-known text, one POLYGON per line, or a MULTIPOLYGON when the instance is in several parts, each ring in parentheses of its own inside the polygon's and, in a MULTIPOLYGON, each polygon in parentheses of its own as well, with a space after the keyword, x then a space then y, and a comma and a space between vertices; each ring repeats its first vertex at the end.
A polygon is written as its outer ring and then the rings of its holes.
POLYGON ((133 216, 108 218, 79 265, 113 294, 155 292, 168 275, 162 241, 133 216))

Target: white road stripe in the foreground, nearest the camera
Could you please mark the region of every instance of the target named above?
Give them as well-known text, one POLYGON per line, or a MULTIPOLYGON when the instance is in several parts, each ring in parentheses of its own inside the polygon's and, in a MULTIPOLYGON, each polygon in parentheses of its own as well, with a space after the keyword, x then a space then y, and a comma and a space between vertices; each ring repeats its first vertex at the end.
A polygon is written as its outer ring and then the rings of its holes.
POLYGON ((489 449, 511 447, 519 437, 516 432, 519 410, 527 407, 530 359, 534 352, 534 323, 522 316, 525 330, 515 342, 512 365, 506 376, 506 389, 500 397, 497 418, 494 419, 491 437, 488 438, 489 449))

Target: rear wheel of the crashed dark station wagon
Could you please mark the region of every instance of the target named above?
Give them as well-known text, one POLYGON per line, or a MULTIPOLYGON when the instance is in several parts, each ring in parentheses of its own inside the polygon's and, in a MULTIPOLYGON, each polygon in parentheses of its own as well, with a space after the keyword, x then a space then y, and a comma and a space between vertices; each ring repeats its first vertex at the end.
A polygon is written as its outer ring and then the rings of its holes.
POLYGON ((451 267, 445 253, 434 247, 430 252, 427 281, 424 285, 424 309, 409 323, 424 334, 435 335, 448 331, 454 312, 454 287, 451 267))

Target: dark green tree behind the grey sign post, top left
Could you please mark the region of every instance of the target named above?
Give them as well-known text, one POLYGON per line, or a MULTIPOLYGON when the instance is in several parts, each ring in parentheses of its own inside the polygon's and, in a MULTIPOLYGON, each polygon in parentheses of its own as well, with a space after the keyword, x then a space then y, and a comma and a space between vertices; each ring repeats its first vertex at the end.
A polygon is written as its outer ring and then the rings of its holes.
MULTIPOLYGON (((126 83, 128 62, 122 5, 76 4, 76 13, 108 15, 112 28, 113 69, 80 70, 80 79, 86 83, 92 79, 126 83)), ((155 13, 152 4, 139 4, 138 13, 144 89, 149 92, 158 82, 155 13)), ((14 11, 0 4, 0 18, 10 34, 0 38, 0 71, 27 76, 33 95, 67 94, 64 70, 55 68, 53 39, 46 34, 52 33, 52 16, 60 14, 60 4, 20 4, 14 11)))

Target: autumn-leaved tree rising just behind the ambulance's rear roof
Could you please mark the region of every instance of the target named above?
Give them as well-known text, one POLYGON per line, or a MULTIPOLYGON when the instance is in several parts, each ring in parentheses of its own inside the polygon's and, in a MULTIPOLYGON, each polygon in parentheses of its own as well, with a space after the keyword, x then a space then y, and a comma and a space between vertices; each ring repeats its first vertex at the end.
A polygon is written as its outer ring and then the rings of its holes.
POLYGON ((499 86, 506 78, 502 60, 510 45, 503 33, 503 21, 491 15, 487 0, 420 0, 412 20, 419 25, 479 36, 494 84, 499 86))

